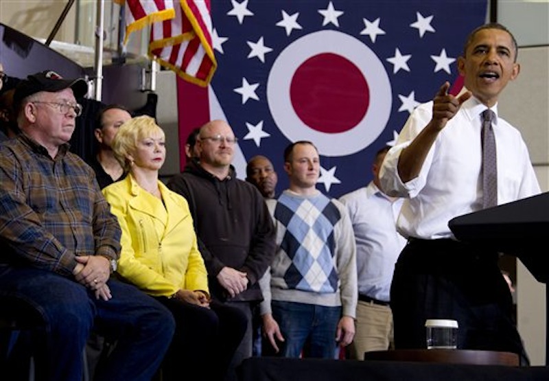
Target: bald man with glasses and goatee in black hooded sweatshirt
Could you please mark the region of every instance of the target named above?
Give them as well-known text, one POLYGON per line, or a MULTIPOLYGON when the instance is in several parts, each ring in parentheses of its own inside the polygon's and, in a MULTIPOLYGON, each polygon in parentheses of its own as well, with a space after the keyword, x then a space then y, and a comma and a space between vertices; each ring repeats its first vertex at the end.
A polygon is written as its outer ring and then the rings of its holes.
POLYGON ((189 161, 168 183, 189 203, 212 298, 248 316, 226 380, 236 380, 235 367, 252 356, 252 309, 263 299, 258 281, 274 256, 274 227, 263 196, 236 178, 231 165, 236 141, 229 124, 208 122, 196 139, 199 161, 189 161))

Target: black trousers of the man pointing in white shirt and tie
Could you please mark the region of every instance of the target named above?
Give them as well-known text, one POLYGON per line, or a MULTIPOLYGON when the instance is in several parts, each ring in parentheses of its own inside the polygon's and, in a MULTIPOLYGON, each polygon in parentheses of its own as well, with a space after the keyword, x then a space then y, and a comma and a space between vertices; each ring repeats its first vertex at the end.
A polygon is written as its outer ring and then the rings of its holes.
POLYGON ((411 239, 393 275, 395 348, 425 348, 426 319, 458 321, 458 348, 528 356, 513 321, 513 300, 498 253, 454 240, 411 239))

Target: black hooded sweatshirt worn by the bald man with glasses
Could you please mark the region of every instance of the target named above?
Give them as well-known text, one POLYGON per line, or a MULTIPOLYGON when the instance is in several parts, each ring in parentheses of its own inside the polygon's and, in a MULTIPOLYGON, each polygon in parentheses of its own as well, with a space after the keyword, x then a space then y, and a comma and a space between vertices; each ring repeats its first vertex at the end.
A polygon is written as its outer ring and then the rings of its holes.
POLYGON ((262 300, 258 281, 270 266, 276 245, 272 218, 257 188, 235 178, 232 166, 229 176, 220 180, 198 161, 187 163, 167 187, 189 203, 212 296, 226 298, 216 276, 230 266, 246 273, 250 281, 248 289, 232 300, 262 300))

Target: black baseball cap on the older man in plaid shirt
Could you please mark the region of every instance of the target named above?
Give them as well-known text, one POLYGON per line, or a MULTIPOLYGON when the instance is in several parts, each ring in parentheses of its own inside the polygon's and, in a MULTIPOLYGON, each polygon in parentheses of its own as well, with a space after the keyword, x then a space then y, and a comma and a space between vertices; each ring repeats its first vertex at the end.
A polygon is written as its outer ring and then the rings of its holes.
POLYGON ((40 71, 40 73, 27 76, 25 80, 19 81, 13 95, 13 105, 17 110, 21 101, 39 91, 55 93, 68 88, 73 89, 74 97, 81 98, 88 92, 88 84, 82 78, 65 80, 58 73, 52 70, 40 71))

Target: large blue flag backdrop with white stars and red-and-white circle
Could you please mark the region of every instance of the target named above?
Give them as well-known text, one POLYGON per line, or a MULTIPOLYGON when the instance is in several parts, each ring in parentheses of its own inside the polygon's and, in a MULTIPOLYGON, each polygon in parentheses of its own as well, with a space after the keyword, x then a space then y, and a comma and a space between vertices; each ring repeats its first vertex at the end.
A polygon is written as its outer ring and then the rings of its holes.
POLYGON ((263 154, 281 192, 285 146, 310 140, 318 189, 339 197, 371 180, 415 106, 445 81, 460 90, 456 59, 486 16, 487 0, 212 0, 218 68, 207 88, 178 78, 180 141, 225 119, 238 177, 263 154))

